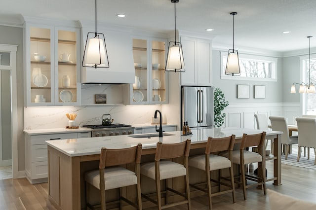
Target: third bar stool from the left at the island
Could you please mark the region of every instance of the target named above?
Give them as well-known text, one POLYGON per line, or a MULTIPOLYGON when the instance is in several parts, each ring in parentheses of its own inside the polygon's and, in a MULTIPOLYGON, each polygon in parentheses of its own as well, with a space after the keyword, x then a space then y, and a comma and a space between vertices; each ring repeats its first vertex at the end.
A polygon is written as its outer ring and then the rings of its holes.
POLYGON ((208 194, 209 200, 209 209, 212 209, 212 197, 217 195, 222 195, 225 193, 232 193, 233 202, 235 203, 235 184, 234 184, 234 173, 233 173, 233 163, 231 162, 232 158, 232 150, 234 148, 235 143, 235 135, 225 138, 211 138, 209 137, 207 140, 205 155, 195 155, 189 158, 189 167, 194 167, 199 170, 205 171, 206 173, 206 182, 190 184, 190 186, 206 192, 208 194), (229 158, 222 157, 215 154, 210 154, 214 152, 223 152, 227 151, 229 158), (230 184, 221 181, 221 169, 229 169, 230 173, 230 184), (214 180, 211 178, 210 172, 219 170, 218 180, 214 180), (211 181, 217 182, 219 184, 219 192, 212 193, 211 192, 211 181), (201 188, 201 185, 206 184, 206 189, 201 188), (230 189, 221 191, 220 185, 229 186, 230 189))

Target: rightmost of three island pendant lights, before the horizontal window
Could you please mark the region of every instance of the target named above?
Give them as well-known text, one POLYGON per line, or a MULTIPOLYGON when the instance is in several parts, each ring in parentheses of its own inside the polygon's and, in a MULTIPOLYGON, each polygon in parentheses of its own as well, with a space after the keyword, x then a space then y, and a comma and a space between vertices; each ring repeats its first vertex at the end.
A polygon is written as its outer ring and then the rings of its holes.
POLYGON ((235 34, 235 15, 237 12, 231 12, 233 15, 233 49, 228 50, 227 64, 226 64, 226 75, 240 75, 238 51, 234 49, 234 34, 235 34))

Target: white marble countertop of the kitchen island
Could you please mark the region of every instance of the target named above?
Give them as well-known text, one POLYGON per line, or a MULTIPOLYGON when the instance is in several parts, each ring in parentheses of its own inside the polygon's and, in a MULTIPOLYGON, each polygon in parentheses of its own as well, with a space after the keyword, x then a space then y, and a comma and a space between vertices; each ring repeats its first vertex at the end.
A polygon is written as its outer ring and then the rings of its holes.
MULTIPOLYGON (((241 129, 241 128, 224 128, 224 129, 200 129, 192 130, 192 135, 182 136, 182 131, 166 132, 173 134, 172 136, 151 137, 151 138, 133 138, 130 136, 143 136, 144 134, 123 135, 123 136, 107 136, 107 137, 94 137, 82 139, 69 139, 69 140, 46 140, 46 143, 59 150, 60 152, 71 156, 93 155, 100 154, 101 147, 109 149, 125 148, 143 144, 143 149, 155 148, 156 143, 161 141, 163 143, 177 143, 187 139, 191 139, 191 143, 206 142, 208 137, 222 138, 232 134, 236 135, 236 139, 242 138, 242 134, 258 134, 263 130, 254 129, 241 129)), ((279 131, 266 131, 267 136, 282 134, 279 131)), ((148 135, 148 134, 146 134, 148 135)))

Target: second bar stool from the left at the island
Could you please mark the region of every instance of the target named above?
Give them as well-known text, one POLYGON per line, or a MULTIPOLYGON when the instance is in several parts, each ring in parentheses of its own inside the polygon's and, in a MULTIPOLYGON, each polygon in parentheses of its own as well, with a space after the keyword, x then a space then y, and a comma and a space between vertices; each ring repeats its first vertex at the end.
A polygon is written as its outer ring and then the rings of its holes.
POLYGON ((189 187, 189 167, 188 157, 190 152, 191 140, 186 140, 180 143, 157 143, 155 162, 143 163, 140 166, 141 175, 145 175, 156 182, 157 200, 150 197, 150 195, 142 196, 158 206, 158 210, 174 207, 177 205, 187 204, 188 209, 191 210, 190 201, 190 187, 189 187), (183 164, 173 162, 173 158, 183 157, 183 164), (169 160, 165 160, 169 159, 169 160), (160 161, 161 160, 161 161, 160 161), (170 178, 185 176, 185 191, 183 194, 175 189, 169 188, 167 181, 170 178), (165 180, 165 191, 160 189, 160 180, 165 180), (169 192, 171 191, 185 198, 184 201, 174 202, 168 204, 169 192), (161 194, 166 194, 165 205, 161 205, 161 194))

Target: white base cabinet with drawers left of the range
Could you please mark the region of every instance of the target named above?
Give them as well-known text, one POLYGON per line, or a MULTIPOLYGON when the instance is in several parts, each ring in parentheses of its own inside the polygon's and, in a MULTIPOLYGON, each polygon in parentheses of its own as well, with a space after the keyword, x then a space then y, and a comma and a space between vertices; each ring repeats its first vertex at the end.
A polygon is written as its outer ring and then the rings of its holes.
POLYGON ((24 134, 25 175, 32 183, 47 182, 47 144, 45 140, 77 139, 91 137, 91 132, 45 135, 24 134))

